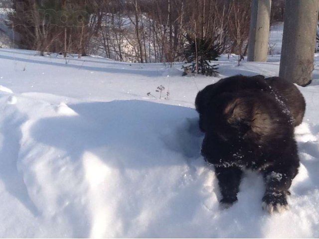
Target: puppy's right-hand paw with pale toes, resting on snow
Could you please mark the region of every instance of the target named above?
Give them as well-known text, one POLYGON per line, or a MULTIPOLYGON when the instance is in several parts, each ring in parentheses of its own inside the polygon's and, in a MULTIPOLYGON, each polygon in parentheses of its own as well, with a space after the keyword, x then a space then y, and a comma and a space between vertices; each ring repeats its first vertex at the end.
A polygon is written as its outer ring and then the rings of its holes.
POLYGON ((282 213, 288 210, 287 196, 283 192, 271 192, 265 194, 262 199, 262 207, 269 214, 282 213))

